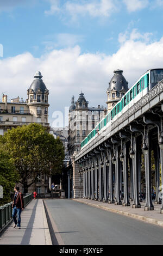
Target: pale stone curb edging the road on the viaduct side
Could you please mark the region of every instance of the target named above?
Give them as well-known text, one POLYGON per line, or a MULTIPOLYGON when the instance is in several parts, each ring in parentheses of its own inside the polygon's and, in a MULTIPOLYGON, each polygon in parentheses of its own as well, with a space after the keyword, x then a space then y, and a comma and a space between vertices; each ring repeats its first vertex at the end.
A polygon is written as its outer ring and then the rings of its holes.
POLYGON ((83 202, 76 198, 72 198, 72 200, 77 201, 79 203, 87 204, 87 205, 90 205, 90 206, 93 206, 93 207, 96 207, 99 209, 103 209, 103 210, 110 211, 110 212, 115 212, 116 214, 121 214, 121 215, 128 216, 131 218, 136 218, 137 220, 140 220, 143 222, 148 222, 148 223, 159 225, 160 227, 163 227, 163 221, 155 220, 154 218, 148 218, 148 217, 144 217, 144 216, 137 215, 137 214, 130 214, 130 212, 121 211, 121 210, 117 210, 117 209, 111 209, 111 208, 105 207, 103 205, 98 205, 98 204, 96 205, 96 204, 92 204, 89 202, 83 202))

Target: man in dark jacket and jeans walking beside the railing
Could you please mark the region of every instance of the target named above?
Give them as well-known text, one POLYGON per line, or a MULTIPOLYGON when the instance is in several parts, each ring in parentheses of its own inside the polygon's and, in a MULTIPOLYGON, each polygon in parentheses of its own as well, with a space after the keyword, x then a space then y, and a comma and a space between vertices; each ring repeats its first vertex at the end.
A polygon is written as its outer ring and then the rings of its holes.
POLYGON ((14 220, 14 228, 18 227, 18 229, 21 229, 21 212, 24 209, 24 199, 22 193, 19 191, 19 187, 14 187, 15 195, 14 195, 14 201, 12 203, 12 218, 14 220), (16 214, 17 214, 17 220, 16 220, 16 214))

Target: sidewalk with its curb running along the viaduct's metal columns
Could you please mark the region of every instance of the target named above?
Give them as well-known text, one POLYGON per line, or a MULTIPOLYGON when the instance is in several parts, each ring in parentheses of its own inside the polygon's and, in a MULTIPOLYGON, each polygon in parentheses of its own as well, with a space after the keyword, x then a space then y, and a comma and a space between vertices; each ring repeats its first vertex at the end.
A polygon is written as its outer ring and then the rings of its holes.
MULTIPOLYGON (((73 198, 72 200, 75 200, 77 202, 84 203, 87 205, 91 205, 96 208, 115 212, 116 214, 122 214, 124 216, 136 218, 137 220, 145 221, 145 222, 163 227, 163 214, 160 214, 160 207, 161 207, 160 204, 159 205, 154 204, 153 211, 145 211, 144 210, 145 203, 141 203, 141 208, 134 209, 132 208, 132 205, 122 206, 122 205, 108 204, 108 203, 103 203, 103 202, 84 199, 84 198, 77 198, 77 199, 73 198)), ((130 204, 131 203, 132 202, 130 202, 130 204)))

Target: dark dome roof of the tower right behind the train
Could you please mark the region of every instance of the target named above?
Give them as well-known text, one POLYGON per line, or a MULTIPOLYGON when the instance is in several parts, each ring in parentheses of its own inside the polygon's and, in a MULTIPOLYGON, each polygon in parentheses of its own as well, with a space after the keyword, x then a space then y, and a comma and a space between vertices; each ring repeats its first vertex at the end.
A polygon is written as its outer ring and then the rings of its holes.
POLYGON ((111 78, 111 81, 109 83, 108 90, 116 90, 117 92, 120 92, 120 90, 128 90, 128 82, 122 75, 123 70, 117 69, 114 71, 115 75, 111 78))

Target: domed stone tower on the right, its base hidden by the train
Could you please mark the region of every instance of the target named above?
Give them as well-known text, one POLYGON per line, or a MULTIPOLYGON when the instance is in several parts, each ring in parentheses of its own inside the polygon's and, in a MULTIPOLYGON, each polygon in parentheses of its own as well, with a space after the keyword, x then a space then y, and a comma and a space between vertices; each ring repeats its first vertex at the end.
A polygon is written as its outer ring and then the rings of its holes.
POLYGON ((121 100, 122 96, 128 91, 128 82, 122 75, 123 70, 117 69, 114 71, 114 76, 111 78, 109 88, 107 90, 108 111, 110 111, 118 101, 121 100))

